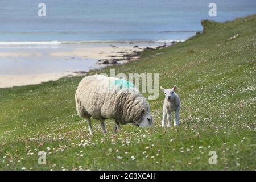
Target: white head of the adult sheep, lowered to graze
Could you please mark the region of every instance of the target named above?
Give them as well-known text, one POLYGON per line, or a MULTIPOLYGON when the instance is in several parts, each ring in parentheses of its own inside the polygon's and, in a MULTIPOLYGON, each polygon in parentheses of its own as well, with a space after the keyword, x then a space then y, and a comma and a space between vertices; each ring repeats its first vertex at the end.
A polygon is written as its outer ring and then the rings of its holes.
POLYGON ((141 111, 141 118, 139 118, 137 121, 134 121, 134 125, 139 127, 153 127, 154 121, 150 110, 146 110, 143 108, 141 111))

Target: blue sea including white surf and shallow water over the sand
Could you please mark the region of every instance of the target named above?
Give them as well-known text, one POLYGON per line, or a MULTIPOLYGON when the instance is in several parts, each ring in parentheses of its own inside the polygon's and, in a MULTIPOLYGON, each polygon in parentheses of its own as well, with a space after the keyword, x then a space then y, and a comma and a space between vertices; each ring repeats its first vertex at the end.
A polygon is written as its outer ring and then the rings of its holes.
POLYGON ((97 60, 49 52, 70 51, 77 44, 185 40, 203 30, 202 19, 224 22, 254 13, 255 0, 1 0, 0 53, 32 56, 0 54, 0 75, 88 71, 100 68, 97 60), (45 17, 38 16, 42 2, 45 17), (208 14, 211 2, 217 16, 208 14))

